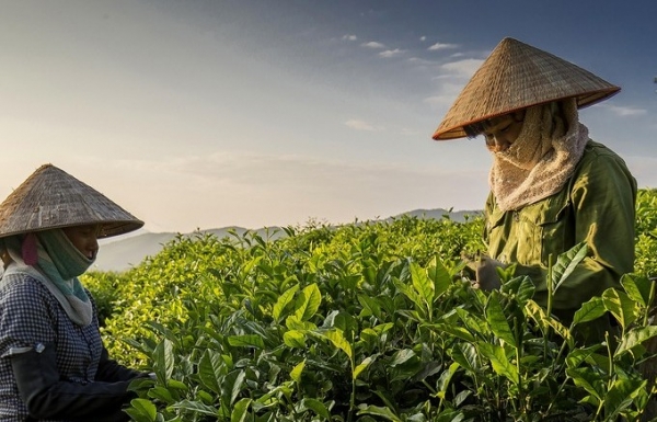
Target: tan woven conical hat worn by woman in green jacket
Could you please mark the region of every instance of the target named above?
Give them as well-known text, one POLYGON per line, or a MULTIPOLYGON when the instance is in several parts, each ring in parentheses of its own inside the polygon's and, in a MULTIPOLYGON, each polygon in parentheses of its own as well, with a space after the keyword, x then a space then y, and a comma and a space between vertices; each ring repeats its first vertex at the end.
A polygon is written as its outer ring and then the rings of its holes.
POLYGON ((620 90, 550 53, 504 38, 463 88, 433 138, 462 138, 463 126, 551 101, 574 96, 584 107, 620 90))

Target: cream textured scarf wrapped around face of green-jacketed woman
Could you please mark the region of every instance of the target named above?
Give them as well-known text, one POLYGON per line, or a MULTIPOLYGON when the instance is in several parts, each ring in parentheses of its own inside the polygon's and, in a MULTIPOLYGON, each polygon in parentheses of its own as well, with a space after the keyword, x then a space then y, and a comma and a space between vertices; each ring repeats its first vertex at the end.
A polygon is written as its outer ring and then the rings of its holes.
POLYGON ((502 210, 518 209, 558 191, 573 174, 588 141, 574 99, 529 107, 518 139, 494 152, 489 184, 502 210))

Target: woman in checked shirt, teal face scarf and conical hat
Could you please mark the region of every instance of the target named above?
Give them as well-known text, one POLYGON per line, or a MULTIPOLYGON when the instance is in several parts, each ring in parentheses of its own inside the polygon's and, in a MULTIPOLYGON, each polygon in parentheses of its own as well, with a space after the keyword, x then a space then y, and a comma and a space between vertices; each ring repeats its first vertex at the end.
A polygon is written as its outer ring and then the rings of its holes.
POLYGON ((142 221, 60 169, 37 169, 0 205, 0 421, 127 421, 128 384, 78 280, 97 238, 142 221))

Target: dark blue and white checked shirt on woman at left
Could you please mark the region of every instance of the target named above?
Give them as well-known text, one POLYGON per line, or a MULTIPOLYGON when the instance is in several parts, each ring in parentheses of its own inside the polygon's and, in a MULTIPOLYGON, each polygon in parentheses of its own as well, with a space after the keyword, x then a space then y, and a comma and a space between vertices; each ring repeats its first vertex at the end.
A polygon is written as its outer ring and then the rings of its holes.
POLYGON ((93 308, 92 323, 77 326, 41 282, 25 274, 4 276, 0 287, 0 421, 28 420, 7 357, 10 350, 55 344, 62 380, 87 385, 95 379, 103 344, 95 304, 93 308))

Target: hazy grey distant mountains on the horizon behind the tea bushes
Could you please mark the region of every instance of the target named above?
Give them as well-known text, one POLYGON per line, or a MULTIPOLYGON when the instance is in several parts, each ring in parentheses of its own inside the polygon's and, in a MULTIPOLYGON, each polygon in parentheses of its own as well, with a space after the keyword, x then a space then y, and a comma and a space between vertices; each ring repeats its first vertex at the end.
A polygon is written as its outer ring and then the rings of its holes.
MULTIPOLYGON (((415 209, 408 213, 400 214, 394 217, 388 218, 400 218, 403 215, 408 215, 417 218, 436 218, 440 219, 446 216, 453 219, 454 221, 464 221, 466 215, 479 215, 479 210, 460 210, 451 212, 448 209, 415 209)), ((146 230, 138 230, 134 233, 123 236, 118 239, 110 238, 107 240, 101 240, 101 250, 99 258, 96 259, 92 270, 99 271, 116 271, 122 272, 129 270, 132 266, 139 265, 147 256, 154 256, 158 254, 164 244, 169 243, 177 236, 195 236, 198 233, 212 233, 218 238, 231 236, 230 232, 234 231, 238 235, 243 235, 246 231, 255 231, 263 238, 276 239, 280 236, 285 236, 285 232, 278 227, 262 228, 258 230, 249 230, 242 227, 224 227, 220 229, 200 230, 193 233, 176 233, 176 232, 162 232, 151 233, 146 230)))

